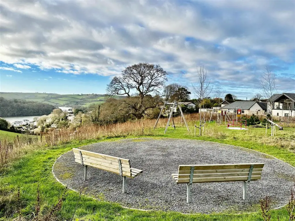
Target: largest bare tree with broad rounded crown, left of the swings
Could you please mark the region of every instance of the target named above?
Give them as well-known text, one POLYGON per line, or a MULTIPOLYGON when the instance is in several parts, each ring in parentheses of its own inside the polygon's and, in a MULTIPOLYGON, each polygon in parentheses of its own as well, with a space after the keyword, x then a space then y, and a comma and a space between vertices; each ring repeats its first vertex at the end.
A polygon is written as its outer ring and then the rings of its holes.
POLYGON ((122 71, 122 77, 114 77, 107 85, 107 94, 127 95, 127 99, 123 99, 123 107, 128 110, 128 115, 135 116, 140 119, 145 115, 146 110, 155 108, 158 99, 155 102, 145 102, 150 100, 151 94, 160 93, 160 89, 164 87, 167 81, 168 73, 160 66, 150 63, 138 63, 128 66, 122 71), (137 99, 132 98, 132 92, 137 93, 137 99))

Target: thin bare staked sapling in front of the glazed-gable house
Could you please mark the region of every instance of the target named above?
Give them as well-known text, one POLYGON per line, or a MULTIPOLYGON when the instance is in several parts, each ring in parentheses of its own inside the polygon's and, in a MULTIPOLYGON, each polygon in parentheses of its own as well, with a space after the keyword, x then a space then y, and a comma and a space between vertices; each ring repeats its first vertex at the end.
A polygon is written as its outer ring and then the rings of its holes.
MULTIPOLYGON (((265 98, 268 98, 267 112, 271 113, 273 108, 273 93, 276 90, 276 75, 272 73, 269 67, 265 67, 265 71, 260 78, 260 88, 265 98)), ((271 121, 273 121, 273 115, 271 113, 271 121)), ((271 125, 271 136, 273 136, 273 125, 271 125)))

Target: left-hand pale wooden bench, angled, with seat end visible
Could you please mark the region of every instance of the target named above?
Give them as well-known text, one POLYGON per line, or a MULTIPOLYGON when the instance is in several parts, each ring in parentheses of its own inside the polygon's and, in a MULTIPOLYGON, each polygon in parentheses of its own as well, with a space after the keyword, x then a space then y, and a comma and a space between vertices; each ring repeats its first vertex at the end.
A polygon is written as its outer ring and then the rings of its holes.
POLYGON ((84 166, 84 181, 87 179, 87 166, 119 174, 123 177, 123 189, 126 189, 126 177, 134 178, 142 173, 142 170, 132 168, 128 159, 94 153, 91 151, 73 148, 75 161, 84 166))

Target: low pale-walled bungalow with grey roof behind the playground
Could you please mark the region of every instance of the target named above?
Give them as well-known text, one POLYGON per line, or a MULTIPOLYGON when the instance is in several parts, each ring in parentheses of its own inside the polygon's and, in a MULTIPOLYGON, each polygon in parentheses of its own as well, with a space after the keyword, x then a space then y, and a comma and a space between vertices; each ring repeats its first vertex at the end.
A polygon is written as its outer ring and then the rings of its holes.
POLYGON ((244 114, 264 114, 266 111, 265 103, 256 100, 239 100, 232 102, 220 109, 226 110, 228 113, 235 113, 237 109, 241 109, 244 114))

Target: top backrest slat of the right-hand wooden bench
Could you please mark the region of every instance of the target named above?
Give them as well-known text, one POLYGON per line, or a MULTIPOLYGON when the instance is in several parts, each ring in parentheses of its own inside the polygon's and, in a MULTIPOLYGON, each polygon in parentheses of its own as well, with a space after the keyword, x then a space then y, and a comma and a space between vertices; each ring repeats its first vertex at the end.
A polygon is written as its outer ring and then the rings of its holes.
POLYGON ((190 170, 191 166, 195 167, 195 170, 216 170, 216 169, 249 169, 251 165, 253 168, 262 168, 264 164, 253 163, 253 164, 204 164, 204 165, 179 165, 178 170, 190 170))

